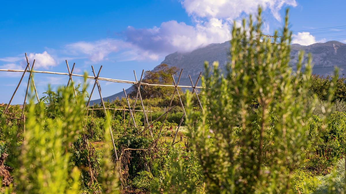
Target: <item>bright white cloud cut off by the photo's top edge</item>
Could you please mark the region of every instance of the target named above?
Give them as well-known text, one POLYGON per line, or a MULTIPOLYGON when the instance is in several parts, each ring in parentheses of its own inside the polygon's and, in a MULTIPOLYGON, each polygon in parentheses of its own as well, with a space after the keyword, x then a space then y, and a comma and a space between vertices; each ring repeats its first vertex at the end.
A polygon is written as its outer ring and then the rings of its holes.
POLYGON ((258 6, 270 9, 278 21, 279 11, 284 5, 297 6, 295 0, 182 0, 189 15, 201 18, 219 18, 234 20, 242 13, 256 13, 258 6))

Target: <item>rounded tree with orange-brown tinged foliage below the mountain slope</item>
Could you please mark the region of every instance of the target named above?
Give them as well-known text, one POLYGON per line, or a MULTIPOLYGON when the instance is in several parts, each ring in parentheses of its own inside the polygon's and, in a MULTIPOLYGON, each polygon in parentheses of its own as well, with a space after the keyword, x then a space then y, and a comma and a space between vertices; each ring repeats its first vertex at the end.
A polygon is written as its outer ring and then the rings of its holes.
MULTIPOLYGON (((157 66, 152 71, 145 71, 144 78, 142 82, 148 84, 162 84, 162 85, 172 85, 171 74, 177 73, 177 67, 169 67, 166 64, 161 64, 157 66)), ((139 81, 138 77, 138 81, 139 81)), ((175 80, 177 81, 177 80, 175 80)), ((172 96, 174 92, 174 87, 160 87, 160 86, 145 86, 141 85, 140 93, 142 98, 163 98, 165 96, 172 96)), ((130 96, 136 97, 137 86, 134 86, 134 90, 131 91, 130 96)))

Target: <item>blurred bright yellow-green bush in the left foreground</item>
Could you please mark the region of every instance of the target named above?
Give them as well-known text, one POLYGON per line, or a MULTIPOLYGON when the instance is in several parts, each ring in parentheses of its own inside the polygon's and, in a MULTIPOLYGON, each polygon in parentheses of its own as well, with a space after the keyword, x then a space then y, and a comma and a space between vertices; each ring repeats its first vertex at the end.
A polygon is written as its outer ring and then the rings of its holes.
POLYGON ((47 116, 45 111, 50 107, 46 108, 43 102, 34 105, 30 100, 23 142, 12 150, 18 158, 18 162, 12 163, 17 177, 16 193, 79 191, 80 171, 70 162, 69 145, 82 127, 85 89, 75 98, 71 87, 59 88, 60 98, 52 103, 58 115, 54 117, 47 116))

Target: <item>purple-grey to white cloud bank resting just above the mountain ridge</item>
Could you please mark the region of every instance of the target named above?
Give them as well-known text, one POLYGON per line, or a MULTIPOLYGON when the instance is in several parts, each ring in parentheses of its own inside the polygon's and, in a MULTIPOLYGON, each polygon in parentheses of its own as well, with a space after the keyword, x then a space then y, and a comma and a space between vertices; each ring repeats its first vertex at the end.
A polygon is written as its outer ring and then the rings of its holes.
POLYGON ((191 51, 203 45, 230 40, 230 26, 222 20, 186 25, 175 20, 163 22, 160 27, 135 29, 128 27, 127 41, 154 53, 191 51))

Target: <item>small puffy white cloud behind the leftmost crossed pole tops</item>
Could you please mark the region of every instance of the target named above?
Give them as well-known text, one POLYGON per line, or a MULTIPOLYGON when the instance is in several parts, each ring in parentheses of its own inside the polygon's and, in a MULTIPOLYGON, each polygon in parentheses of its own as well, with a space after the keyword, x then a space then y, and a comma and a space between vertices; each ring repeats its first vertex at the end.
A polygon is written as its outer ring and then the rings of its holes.
MULTIPOLYGON (((35 59, 34 69, 35 68, 37 69, 40 67, 48 69, 49 67, 56 65, 56 61, 51 55, 48 54, 47 51, 44 51, 43 53, 30 53, 28 55, 30 66, 32 62, 34 61, 34 59, 35 59)), ((25 65, 26 65, 26 59, 25 59, 25 65)))

